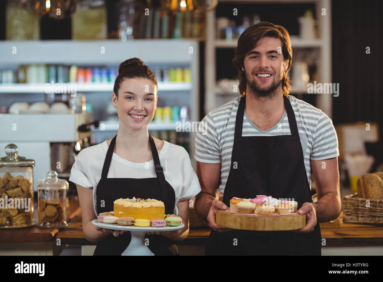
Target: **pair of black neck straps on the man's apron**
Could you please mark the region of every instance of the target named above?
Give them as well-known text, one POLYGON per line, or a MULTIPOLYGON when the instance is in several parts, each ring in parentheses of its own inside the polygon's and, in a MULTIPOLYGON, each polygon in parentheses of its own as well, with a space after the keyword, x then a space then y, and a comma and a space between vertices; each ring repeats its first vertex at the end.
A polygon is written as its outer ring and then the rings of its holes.
MULTIPOLYGON (((290 100, 285 95, 283 95, 283 102, 285 103, 285 107, 286 107, 291 135, 296 135, 299 137, 298 126, 296 125, 294 110, 293 110, 293 107, 291 107, 290 100)), ((242 125, 243 125, 243 116, 245 112, 245 106, 246 106, 246 95, 242 96, 241 101, 239 101, 239 106, 238 106, 237 116, 236 116, 236 127, 234 131, 234 138, 242 137, 242 125)))

